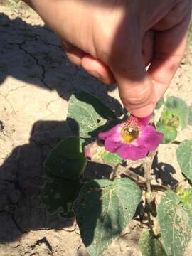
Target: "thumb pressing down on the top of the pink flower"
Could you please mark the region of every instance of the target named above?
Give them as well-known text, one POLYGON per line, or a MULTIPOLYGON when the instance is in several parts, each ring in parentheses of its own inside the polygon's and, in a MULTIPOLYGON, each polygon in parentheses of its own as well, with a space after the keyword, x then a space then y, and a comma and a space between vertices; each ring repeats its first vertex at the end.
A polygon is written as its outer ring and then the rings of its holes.
POLYGON ((124 107, 136 117, 146 117, 154 111, 156 95, 153 81, 144 67, 142 42, 134 42, 134 38, 129 38, 128 43, 121 38, 115 42, 110 68, 124 107))

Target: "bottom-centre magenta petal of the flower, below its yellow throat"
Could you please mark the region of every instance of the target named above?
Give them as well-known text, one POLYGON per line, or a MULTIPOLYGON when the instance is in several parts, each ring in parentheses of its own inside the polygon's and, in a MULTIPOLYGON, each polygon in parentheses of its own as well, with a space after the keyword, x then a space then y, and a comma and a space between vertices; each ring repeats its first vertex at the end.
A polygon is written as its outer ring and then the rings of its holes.
POLYGON ((144 146, 122 144, 122 146, 117 149, 117 153, 122 157, 122 159, 136 161, 144 158, 147 155, 148 150, 144 146))

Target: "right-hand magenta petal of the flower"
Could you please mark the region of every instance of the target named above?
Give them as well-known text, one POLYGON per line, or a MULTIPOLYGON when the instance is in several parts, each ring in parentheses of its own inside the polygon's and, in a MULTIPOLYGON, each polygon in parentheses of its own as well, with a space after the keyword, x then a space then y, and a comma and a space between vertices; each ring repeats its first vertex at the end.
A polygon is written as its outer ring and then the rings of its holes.
POLYGON ((135 140, 137 146, 144 146, 146 149, 155 150, 163 139, 164 134, 156 132, 151 125, 146 125, 140 132, 139 137, 135 140))

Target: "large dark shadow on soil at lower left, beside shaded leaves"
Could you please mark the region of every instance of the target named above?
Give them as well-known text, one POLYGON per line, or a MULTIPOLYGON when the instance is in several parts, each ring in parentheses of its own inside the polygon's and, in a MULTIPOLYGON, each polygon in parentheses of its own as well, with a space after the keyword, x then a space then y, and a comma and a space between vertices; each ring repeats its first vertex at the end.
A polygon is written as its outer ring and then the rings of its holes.
MULTIPOLYGON (((43 207, 36 201, 44 191, 46 170, 43 162, 57 142, 72 135, 69 129, 66 132, 67 129, 66 122, 36 122, 29 143, 16 147, 0 166, 0 242, 18 240, 29 230, 61 229, 73 225, 73 218, 60 218, 59 208, 63 206, 63 202, 60 207, 56 206, 58 212, 50 215, 46 208, 55 207, 54 198, 43 207)), ((85 179, 109 178, 111 171, 104 164, 88 164, 85 179)), ((58 179, 58 184, 54 186, 65 186, 66 180, 62 183, 62 178, 55 178, 58 179)), ((73 186, 73 182, 71 184, 73 186)), ((65 188, 61 191, 66 193, 65 188)))

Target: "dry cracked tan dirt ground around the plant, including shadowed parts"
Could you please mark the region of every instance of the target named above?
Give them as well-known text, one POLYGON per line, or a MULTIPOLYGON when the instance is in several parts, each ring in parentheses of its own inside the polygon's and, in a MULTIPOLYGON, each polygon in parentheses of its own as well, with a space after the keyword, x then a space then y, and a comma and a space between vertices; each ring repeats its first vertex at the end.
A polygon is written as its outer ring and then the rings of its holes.
MULTIPOLYGON (((65 124, 71 92, 85 90, 119 111, 115 87, 101 85, 63 55, 55 36, 33 11, 0 5, 0 256, 87 256, 73 220, 49 215, 33 204, 43 161, 69 134, 65 124)), ((192 53, 181 63, 169 95, 192 102, 192 53)), ((178 139, 192 139, 191 128, 178 139)), ((161 146, 154 174, 182 180, 176 145, 161 146)), ((97 171, 97 166, 95 167, 97 171)), ((158 177, 157 177, 158 176, 158 177)), ((142 228, 133 220, 105 256, 134 255, 142 228)), ((190 254, 191 245, 187 255, 190 254)))

